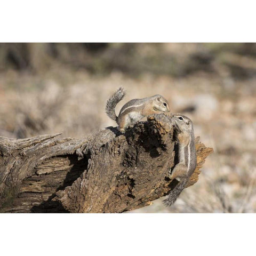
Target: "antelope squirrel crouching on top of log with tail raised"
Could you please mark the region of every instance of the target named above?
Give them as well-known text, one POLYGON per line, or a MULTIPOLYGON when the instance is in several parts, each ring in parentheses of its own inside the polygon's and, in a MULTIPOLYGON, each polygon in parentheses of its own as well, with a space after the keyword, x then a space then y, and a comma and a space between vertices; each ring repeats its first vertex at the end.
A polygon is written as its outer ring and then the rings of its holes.
POLYGON ((154 95, 152 97, 143 99, 133 99, 128 101, 120 110, 118 117, 115 113, 115 107, 119 101, 125 96, 125 92, 120 87, 107 101, 106 113, 115 120, 119 125, 119 131, 122 133, 128 127, 132 127, 135 123, 140 121, 143 117, 151 114, 160 114, 169 112, 169 104, 162 95, 154 95))

